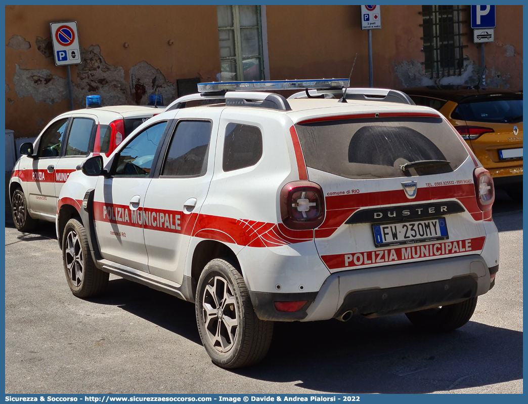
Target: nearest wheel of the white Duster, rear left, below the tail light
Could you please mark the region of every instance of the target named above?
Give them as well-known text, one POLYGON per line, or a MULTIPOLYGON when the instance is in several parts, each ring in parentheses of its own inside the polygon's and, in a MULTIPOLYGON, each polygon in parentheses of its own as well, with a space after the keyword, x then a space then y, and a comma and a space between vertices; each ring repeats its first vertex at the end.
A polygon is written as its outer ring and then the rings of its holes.
POLYGON ((226 369, 260 362, 273 335, 273 322, 255 314, 240 272, 222 259, 210 261, 200 275, 196 323, 212 361, 226 369))

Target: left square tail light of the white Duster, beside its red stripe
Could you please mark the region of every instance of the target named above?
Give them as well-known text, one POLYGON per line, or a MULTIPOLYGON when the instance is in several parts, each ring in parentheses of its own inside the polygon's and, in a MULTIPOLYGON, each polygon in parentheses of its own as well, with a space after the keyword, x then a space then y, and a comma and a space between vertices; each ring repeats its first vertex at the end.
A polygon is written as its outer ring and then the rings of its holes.
POLYGON ((323 223, 325 200, 323 190, 315 182, 288 182, 280 191, 282 223, 293 230, 318 227, 323 223))

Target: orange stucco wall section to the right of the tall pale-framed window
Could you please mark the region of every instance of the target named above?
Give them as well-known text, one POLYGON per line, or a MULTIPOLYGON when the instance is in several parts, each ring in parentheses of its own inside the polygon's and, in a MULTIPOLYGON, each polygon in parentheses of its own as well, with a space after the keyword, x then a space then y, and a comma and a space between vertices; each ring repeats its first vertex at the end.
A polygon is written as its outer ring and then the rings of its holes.
MULTIPOLYGON (((360 6, 267 6, 271 79, 348 77, 355 53, 352 85, 369 85, 367 33, 361 30, 360 6)), ((422 62, 420 5, 381 6, 381 30, 372 31, 375 87, 403 88, 432 84, 475 85, 482 63, 473 43, 469 6, 462 6, 465 69, 461 76, 432 80, 422 62)), ((486 44, 489 87, 522 88, 522 6, 496 6, 495 42, 486 44)))

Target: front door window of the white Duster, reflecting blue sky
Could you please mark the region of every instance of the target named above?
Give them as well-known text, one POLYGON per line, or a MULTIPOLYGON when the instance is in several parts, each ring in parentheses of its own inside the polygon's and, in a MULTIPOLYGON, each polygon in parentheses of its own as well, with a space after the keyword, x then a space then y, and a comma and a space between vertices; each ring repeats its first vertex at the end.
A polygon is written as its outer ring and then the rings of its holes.
POLYGON ((167 122, 149 126, 132 139, 117 156, 117 176, 148 177, 167 122))

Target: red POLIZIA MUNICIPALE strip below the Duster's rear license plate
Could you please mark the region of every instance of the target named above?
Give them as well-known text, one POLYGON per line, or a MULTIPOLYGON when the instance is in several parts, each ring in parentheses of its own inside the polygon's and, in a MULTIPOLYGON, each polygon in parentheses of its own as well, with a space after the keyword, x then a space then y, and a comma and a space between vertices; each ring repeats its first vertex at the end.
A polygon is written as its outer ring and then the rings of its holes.
POLYGON ((426 245, 403 246, 384 250, 364 251, 350 254, 322 255, 328 269, 355 269, 378 263, 397 263, 425 257, 445 256, 469 251, 480 251, 485 236, 467 240, 446 241, 426 245))

